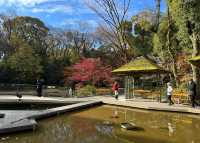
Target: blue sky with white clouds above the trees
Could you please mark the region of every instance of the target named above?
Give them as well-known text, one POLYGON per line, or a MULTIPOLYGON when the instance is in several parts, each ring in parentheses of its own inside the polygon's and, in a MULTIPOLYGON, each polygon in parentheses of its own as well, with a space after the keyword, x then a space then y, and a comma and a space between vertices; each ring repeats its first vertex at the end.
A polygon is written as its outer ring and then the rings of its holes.
MULTIPOLYGON (((132 0, 129 15, 154 8, 155 0, 132 0)), ((164 0, 161 10, 165 11, 164 0)), ((0 0, 0 13, 37 17, 47 26, 66 29, 76 29, 78 23, 94 28, 100 21, 84 0, 0 0)))

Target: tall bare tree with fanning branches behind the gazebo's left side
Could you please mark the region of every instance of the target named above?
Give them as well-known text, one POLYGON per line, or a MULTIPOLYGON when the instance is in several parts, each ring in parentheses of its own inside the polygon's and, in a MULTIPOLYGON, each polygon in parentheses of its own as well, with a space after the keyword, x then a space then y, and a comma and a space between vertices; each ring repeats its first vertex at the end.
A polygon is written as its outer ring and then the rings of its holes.
POLYGON ((131 0, 87 0, 86 4, 104 22, 100 29, 106 39, 112 43, 117 58, 126 63, 129 60, 129 52, 126 39, 126 28, 123 26, 126 21, 131 0))

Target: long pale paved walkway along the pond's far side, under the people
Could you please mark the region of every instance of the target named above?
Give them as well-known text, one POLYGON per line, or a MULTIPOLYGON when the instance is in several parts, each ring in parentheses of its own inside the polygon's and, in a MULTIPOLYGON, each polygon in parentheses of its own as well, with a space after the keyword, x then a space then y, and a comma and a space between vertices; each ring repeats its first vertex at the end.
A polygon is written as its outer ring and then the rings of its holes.
MULTIPOLYGON (((0 103, 5 102, 17 102, 18 98, 15 96, 0 96, 0 103)), ((169 112, 181 112, 181 113, 192 113, 200 114, 200 107, 192 108, 189 105, 175 104, 169 106, 167 103, 153 102, 152 100, 144 99, 131 99, 126 100, 124 96, 120 96, 118 100, 111 96, 95 96, 85 98, 61 98, 61 97, 36 97, 36 96, 23 96, 22 102, 34 102, 34 103, 76 103, 85 101, 102 101, 105 104, 124 106, 131 108, 139 108, 146 110, 157 110, 157 111, 169 111, 169 112)))

